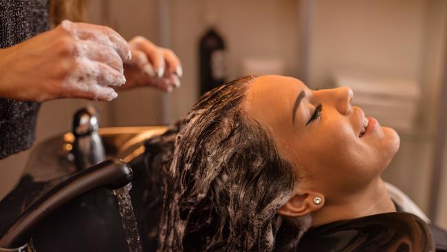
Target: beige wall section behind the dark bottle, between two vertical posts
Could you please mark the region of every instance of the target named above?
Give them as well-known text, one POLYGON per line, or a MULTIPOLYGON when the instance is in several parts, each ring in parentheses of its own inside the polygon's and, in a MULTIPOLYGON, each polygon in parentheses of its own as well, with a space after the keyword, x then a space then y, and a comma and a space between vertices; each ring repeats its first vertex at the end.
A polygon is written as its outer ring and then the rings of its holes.
POLYGON ((228 48, 228 81, 241 76, 241 60, 246 57, 284 59, 285 74, 297 75, 298 34, 295 0, 171 0, 169 1, 171 48, 182 59, 182 87, 168 103, 175 120, 186 114, 198 98, 198 43, 208 28, 204 12, 214 12, 216 27, 228 48))

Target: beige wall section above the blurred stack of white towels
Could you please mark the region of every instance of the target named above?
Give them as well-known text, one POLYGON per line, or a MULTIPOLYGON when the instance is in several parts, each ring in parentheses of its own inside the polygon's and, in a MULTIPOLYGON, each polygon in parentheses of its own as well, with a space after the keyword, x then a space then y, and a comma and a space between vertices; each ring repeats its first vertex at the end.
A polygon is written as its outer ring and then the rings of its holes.
POLYGON ((419 81, 425 0, 318 0, 311 35, 310 81, 327 87, 340 67, 419 81))

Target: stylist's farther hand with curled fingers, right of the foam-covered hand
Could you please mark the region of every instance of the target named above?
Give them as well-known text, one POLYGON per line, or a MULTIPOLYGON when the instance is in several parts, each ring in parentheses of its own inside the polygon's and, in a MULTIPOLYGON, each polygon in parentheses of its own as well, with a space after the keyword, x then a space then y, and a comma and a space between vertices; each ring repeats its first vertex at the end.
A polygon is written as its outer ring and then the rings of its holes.
POLYGON ((164 92, 171 92, 180 86, 182 65, 173 51, 160 48, 142 36, 129 41, 132 59, 124 64, 124 74, 129 87, 152 86, 164 92))

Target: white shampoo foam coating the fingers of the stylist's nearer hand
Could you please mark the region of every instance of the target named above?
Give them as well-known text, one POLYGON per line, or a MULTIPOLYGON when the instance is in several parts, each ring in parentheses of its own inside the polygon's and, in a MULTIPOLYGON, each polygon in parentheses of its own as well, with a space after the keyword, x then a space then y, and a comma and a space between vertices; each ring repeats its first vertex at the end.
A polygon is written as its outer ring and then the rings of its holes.
POLYGON ((131 59, 129 45, 111 29, 65 20, 61 27, 76 40, 75 68, 65 79, 65 92, 91 94, 89 98, 111 101, 118 96, 113 86, 126 82, 123 61, 131 59))

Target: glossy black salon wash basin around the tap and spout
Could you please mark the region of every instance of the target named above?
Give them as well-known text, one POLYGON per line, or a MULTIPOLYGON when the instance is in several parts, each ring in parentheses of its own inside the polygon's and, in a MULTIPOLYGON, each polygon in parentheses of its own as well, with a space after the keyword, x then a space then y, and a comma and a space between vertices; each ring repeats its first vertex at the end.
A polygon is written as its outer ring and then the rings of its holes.
MULTIPOLYGON (((155 248, 150 238, 155 224, 148 220, 151 216, 147 206, 153 202, 144 198, 149 185, 141 154, 144 140, 165 130, 166 127, 111 127, 98 131, 105 157, 120 158, 133 169, 130 195, 143 251, 155 248)), ((33 149, 19 184, 0 201, 0 235, 30 204, 79 171, 74 162, 74 141, 72 133, 59 134, 33 149)), ((98 188, 63 205, 36 228, 28 250, 128 251, 116 196, 109 189, 98 188)))

